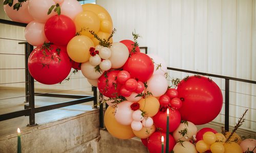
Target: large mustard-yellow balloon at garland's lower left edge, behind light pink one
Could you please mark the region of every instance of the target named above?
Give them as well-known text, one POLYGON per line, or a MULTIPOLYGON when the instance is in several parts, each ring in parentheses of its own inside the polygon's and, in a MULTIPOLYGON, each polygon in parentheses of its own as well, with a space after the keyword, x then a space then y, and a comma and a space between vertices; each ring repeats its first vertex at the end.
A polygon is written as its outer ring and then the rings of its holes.
POLYGON ((104 115, 104 123, 109 133, 119 139, 131 139, 135 137, 131 125, 118 123, 114 115, 115 109, 108 107, 104 115))

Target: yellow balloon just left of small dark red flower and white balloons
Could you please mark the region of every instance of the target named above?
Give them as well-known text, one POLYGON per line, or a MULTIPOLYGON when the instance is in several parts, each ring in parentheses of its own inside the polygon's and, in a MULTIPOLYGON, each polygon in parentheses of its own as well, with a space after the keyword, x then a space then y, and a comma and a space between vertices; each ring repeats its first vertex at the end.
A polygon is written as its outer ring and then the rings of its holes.
POLYGON ((94 47, 94 44, 89 37, 75 36, 69 41, 67 52, 73 61, 83 63, 89 60, 91 47, 94 47))

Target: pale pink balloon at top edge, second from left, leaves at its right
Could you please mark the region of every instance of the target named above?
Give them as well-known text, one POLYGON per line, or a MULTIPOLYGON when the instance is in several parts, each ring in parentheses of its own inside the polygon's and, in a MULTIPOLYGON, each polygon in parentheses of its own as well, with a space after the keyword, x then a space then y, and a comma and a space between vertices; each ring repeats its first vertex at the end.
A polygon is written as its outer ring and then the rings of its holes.
POLYGON ((53 9, 52 12, 47 15, 48 10, 52 5, 55 5, 53 0, 29 0, 28 10, 34 20, 45 23, 51 16, 57 14, 53 9))

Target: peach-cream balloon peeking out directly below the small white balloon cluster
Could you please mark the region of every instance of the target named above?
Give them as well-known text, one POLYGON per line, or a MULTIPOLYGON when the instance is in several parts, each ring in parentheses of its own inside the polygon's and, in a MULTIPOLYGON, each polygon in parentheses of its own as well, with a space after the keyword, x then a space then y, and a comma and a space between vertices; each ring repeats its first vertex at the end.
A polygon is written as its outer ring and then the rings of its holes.
POLYGON ((89 61, 81 64, 81 72, 87 79, 98 79, 103 72, 95 71, 95 67, 90 64, 89 61))

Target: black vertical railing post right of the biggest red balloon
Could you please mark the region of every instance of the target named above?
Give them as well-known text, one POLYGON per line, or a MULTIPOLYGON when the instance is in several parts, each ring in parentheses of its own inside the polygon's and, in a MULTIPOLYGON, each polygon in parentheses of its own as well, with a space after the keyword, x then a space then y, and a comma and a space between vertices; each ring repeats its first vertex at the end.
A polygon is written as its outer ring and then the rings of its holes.
POLYGON ((225 79, 225 131, 229 131, 229 79, 225 79))

